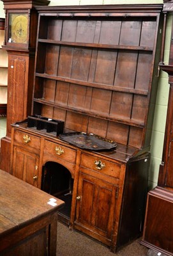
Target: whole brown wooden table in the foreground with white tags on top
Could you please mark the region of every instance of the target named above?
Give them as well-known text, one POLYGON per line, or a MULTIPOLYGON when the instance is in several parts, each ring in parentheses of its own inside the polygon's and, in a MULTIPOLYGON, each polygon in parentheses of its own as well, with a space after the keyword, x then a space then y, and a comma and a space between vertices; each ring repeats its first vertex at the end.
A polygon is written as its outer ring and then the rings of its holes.
POLYGON ((0 255, 56 255, 57 209, 63 204, 0 170, 0 255))

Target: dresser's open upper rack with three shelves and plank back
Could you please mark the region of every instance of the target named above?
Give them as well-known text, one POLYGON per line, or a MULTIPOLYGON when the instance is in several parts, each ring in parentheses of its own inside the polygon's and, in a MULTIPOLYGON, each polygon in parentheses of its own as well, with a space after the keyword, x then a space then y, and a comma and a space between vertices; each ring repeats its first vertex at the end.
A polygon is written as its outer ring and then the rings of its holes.
POLYGON ((151 136, 149 99, 156 95, 157 15, 78 14, 40 13, 33 115, 141 148, 151 136))

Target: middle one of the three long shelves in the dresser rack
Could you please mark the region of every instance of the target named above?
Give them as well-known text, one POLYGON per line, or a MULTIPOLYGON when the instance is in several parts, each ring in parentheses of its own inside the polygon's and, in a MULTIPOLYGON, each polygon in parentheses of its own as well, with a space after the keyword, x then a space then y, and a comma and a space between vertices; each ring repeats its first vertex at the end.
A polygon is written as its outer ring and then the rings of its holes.
POLYGON ((115 92, 127 92, 127 93, 134 93, 139 95, 148 95, 148 92, 145 90, 136 90, 133 88, 126 88, 126 87, 117 87, 117 86, 111 86, 110 84, 98 84, 98 83, 91 83, 88 81, 81 81, 77 79, 67 78, 67 77, 61 77, 61 76, 50 76, 48 74, 40 74, 36 73, 36 77, 43 77, 47 79, 54 79, 56 81, 61 81, 65 83, 71 83, 71 84, 79 84, 82 86, 89 86, 93 88, 101 88, 104 90, 112 90, 115 92))

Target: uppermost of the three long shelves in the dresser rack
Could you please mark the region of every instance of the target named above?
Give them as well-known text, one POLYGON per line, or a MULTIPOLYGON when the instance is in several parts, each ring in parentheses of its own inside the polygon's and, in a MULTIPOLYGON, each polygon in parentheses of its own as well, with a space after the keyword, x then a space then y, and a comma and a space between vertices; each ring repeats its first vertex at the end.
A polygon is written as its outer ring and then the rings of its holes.
POLYGON ((121 49, 121 50, 133 50, 133 51, 153 51, 153 47, 144 46, 132 46, 132 45, 111 45, 111 44, 89 44, 80 42, 64 42, 50 39, 38 39, 40 43, 46 44, 58 44, 58 45, 68 45, 76 47, 91 47, 91 48, 103 48, 103 49, 121 49))

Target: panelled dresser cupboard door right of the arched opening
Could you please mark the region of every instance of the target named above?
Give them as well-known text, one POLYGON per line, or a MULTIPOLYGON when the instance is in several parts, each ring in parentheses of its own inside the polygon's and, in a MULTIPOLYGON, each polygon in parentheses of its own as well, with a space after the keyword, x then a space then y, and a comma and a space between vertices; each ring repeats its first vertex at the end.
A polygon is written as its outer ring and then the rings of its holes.
POLYGON ((79 223, 84 229, 87 228, 91 232, 111 239, 117 186, 80 173, 78 188, 75 223, 79 223))

